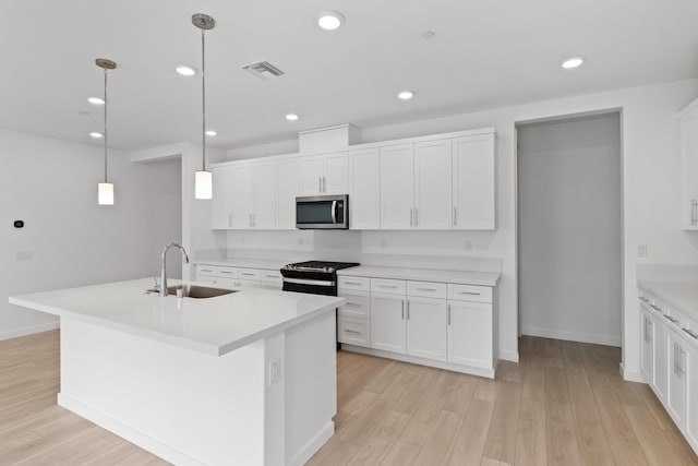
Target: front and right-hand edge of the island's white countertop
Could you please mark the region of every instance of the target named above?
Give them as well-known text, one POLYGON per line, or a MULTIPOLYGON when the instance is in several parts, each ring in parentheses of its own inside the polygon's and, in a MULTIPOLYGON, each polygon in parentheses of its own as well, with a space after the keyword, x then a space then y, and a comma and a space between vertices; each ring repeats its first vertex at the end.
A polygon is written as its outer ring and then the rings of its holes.
MULTIPOLYGON (((332 297, 330 297, 332 298, 332 297)), ((215 299, 215 298, 208 298, 208 299, 215 299)), ((56 308, 52 306, 46 306, 46 304, 39 304, 33 301, 27 301, 24 299, 19 299, 19 298, 14 298, 14 297, 10 297, 8 299, 8 301, 11 304, 15 304, 15 306, 21 306, 23 308, 27 308, 27 309, 32 309, 35 311, 39 311, 39 312, 46 312, 48 314, 52 314, 52 315, 58 315, 60 318, 70 318, 70 319, 74 319, 76 321, 81 321, 81 322, 86 322, 86 323, 92 323, 92 324, 98 324, 108 328, 112 328, 116 331, 120 331, 123 333, 128 333, 131 335, 137 335, 137 336, 142 336, 145 338, 149 338, 149 339, 155 339, 158 342, 163 342, 163 343, 168 343, 171 344, 173 346, 178 346, 178 347, 183 347, 183 348, 189 348, 189 349, 193 349, 200 353, 204 353, 207 355, 212 355, 212 356, 224 356, 227 355, 228 353, 234 351, 238 348, 242 348, 243 346, 246 346, 253 342, 256 342, 257 339, 261 338, 265 338, 267 336, 270 335, 275 335, 279 332, 286 331, 287 328, 297 326, 299 324, 302 324, 304 322, 308 322, 318 315, 321 315, 324 312, 329 312, 329 311, 334 311, 336 308, 340 307, 341 304, 345 303, 346 299, 337 297, 336 298, 336 302, 335 303, 330 303, 330 304, 326 304, 323 306, 322 308, 316 309, 313 312, 308 312, 306 314, 297 316, 290 321, 286 321, 286 322, 281 322, 277 325, 273 325, 268 328, 264 328, 258 332, 254 332, 251 333, 250 335, 246 335, 242 338, 239 338, 234 342, 231 343, 226 343, 222 344, 220 346, 216 346, 216 345, 207 345, 204 343, 200 343, 196 340, 192 340, 192 339, 186 339, 186 338, 180 338, 180 337, 176 337, 172 335, 167 335, 164 333, 159 333, 159 332, 154 332, 147 328, 142 328, 142 327, 137 327, 137 326, 133 326, 133 325, 128 325, 121 322, 115 322, 111 320, 107 320, 107 319, 99 319, 99 318, 95 318, 93 315, 86 315, 83 313, 79 313, 79 312, 72 312, 69 311, 67 309, 62 309, 62 308, 56 308)))

